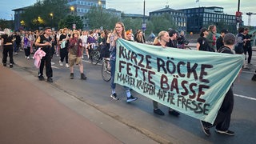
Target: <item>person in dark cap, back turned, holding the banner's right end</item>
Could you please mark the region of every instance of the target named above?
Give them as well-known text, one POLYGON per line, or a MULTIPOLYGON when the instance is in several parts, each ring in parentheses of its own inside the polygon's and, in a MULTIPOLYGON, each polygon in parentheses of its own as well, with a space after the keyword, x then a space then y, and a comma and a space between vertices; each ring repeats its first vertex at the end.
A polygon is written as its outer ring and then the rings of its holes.
MULTIPOLYGON (((224 46, 222 46, 218 52, 219 53, 226 53, 226 54, 234 54, 232 52, 234 43, 235 43, 235 36, 234 34, 228 33, 223 38, 224 46)), ((233 85, 232 85, 233 86, 233 85)), ((222 102, 222 106, 218 110, 217 117, 215 118, 214 124, 210 124, 209 122, 201 122, 202 130, 207 135, 210 136, 210 128, 215 126, 215 131, 218 134, 227 134, 227 135, 234 135, 234 131, 229 130, 230 128, 230 118, 233 111, 234 106, 234 94, 232 90, 232 86, 227 91, 225 98, 222 102)))

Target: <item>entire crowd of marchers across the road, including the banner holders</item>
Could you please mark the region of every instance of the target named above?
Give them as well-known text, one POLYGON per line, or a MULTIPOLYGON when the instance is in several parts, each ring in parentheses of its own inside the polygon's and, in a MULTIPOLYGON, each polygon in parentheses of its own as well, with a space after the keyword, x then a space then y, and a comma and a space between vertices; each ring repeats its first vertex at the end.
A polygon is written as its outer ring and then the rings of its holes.
MULTIPOLYGON (((145 35, 142 30, 137 30, 136 34, 133 34, 132 30, 125 30, 125 26, 122 22, 115 24, 114 30, 70 30, 63 28, 58 31, 52 31, 50 27, 46 27, 44 30, 36 31, 17 31, 13 34, 9 29, 4 30, 5 34, 1 36, 2 39, 2 63, 3 66, 7 64, 7 57, 10 58, 10 68, 14 65, 13 53, 18 54, 19 51, 25 52, 25 58, 30 59, 31 54, 34 54, 36 50, 42 50, 45 55, 41 59, 41 63, 38 70, 38 79, 44 80, 43 69, 46 66, 47 82, 53 82, 53 70, 51 65, 51 59, 56 55, 59 57, 59 66, 65 66, 70 68, 70 79, 74 79, 74 66, 79 66, 79 72, 81 79, 86 80, 86 74, 84 74, 84 67, 82 65, 82 59, 84 55, 91 59, 91 51, 98 47, 101 50, 102 58, 110 58, 111 66, 111 81, 110 81, 110 98, 118 100, 114 83, 115 74, 115 62, 116 62, 116 41, 118 38, 126 39, 128 41, 146 43, 145 35), (64 61, 65 60, 65 61, 64 61)), ((247 54, 247 63, 244 68, 250 65, 252 56, 252 47, 250 45, 249 29, 240 27, 238 34, 228 33, 228 30, 221 30, 221 35, 216 38, 217 28, 214 25, 210 25, 208 28, 203 27, 200 30, 200 37, 197 41, 197 50, 204 50, 209 52, 219 52, 233 54, 234 48, 236 54, 247 54)), ((153 33, 152 33, 153 34, 153 33)), ((150 34, 151 35, 151 34, 150 34)), ((153 36, 152 36, 153 37, 153 36)), ((166 48, 179 48, 185 49, 187 44, 185 34, 183 31, 178 33, 176 30, 160 31, 159 34, 154 36, 154 46, 159 46, 161 49, 166 48)), ((256 72, 255 72, 256 73, 256 72)), ((254 81, 255 78, 252 78, 254 81)), ((130 93, 130 88, 124 86, 126 90, 126 102, 133 102, 137 100, 130 93)), ((202 123, 202 130, 206 135, 210 135, 210 127, 215 126, 216 132, 219 134, 234 135, 234 132, 229 130, 230 115, 234 105, 234 94, 232 86, 226 93, 224 102, 214 124, 208 122, 202 123)), ((158 108, 158 102, 153 101, 154 114, 164 115, 158 108)), ((168 113, 178 117, 180 113, 176 110, 169 108, 168 113)))

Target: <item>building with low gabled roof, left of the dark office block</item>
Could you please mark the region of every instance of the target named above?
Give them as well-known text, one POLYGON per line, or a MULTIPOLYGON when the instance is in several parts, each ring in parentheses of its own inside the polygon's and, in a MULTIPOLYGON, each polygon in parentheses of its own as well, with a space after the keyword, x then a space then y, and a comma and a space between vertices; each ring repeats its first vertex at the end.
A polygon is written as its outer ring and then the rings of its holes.
POLYGON ((166 6, 161 10, 155 10, 150 12, 150 17, 162 14, 169 14, 176 23, 176 26, 178 26, 178 30, 186 31, 186 14, 184 14, 181 10, 174 10, 169 8, 169 6, 166 6))

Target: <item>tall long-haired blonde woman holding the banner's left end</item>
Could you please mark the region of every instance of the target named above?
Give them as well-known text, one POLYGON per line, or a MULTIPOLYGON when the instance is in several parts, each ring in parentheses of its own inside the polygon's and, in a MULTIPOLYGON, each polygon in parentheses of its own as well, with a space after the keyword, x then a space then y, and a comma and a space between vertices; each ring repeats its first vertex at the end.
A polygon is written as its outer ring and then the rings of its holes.
MULTIPOLYGON (((110 35, 110 66, 111 66, 111 90, 112 94, 110 95, 111 98, 114 100, 118 100, 117 94, 115 92, 115 86, 114 83, 114 74, 115 74, 115 61, 116 61, 116 41, 118 38, 126 39, 126 30, 125 26, 122 22, 117 22, 114 27, 113 33, 110 35)), ((137 100, 137 97, 134 97, 130 94, 130 88, 126 87, 126 102, 132 102, 137 100)))

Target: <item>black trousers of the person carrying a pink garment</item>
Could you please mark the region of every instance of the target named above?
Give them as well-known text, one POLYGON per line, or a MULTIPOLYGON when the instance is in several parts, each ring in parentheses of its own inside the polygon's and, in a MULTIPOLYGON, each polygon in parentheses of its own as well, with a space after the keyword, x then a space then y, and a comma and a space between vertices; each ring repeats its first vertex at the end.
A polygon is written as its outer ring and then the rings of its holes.
POLYGON ((53 70, 51 68, 51 50, 50 48, 42 48, 44 52, 46 52, 46 56, 42 57, 41 64, 38 72, 38 77, 43 75, 43 68, 46 65, 46 76, 47 78, 53 77, 53 70))

